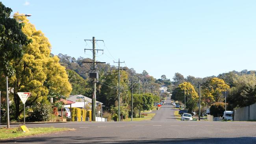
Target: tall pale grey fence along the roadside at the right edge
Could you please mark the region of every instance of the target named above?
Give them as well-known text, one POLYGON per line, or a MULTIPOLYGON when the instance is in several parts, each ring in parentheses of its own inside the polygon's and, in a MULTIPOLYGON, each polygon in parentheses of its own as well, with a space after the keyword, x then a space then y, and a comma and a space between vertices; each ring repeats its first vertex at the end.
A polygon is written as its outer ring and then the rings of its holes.
POLYGON ((256 103, 247 107, 234 109, 235 121, 256 120, 256 103))

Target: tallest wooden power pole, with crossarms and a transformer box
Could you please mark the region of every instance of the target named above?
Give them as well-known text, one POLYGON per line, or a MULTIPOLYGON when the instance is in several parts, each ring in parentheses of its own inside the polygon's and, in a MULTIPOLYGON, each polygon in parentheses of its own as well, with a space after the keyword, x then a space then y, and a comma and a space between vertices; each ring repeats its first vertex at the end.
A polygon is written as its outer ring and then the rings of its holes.
MULTIPOLYGON (((101 63, 101 62, 96 62, 96 50, 97 51, 102 51, 103 50, 98 50, 98 49, 95 49, 96 48, 96 42, 97 41, 103 41, 103 40, 96 40, 95 37, 93 37, 92 40, 90 39, 85 39, 84 41, 91 41, 93 43, 93 49, 84 49, 85 50, 92 50, 93 51, 93 62, 83 62, 83 63, 93 63, 93 71, 96 72, 97 76, 98 76, 98 71, 96 71, 96 63, 101 63)), ((104 63, 104 62, 102 62, 104 63)), ((98 78, 93 78, 93 85, 94 85, 94 90, 93 90, 93 98, 92 98, 92 121, 95 121, 96 120, 96 113, 95 113, 95 109, 96 109, 96 82, 97 82, 97 79, 98 78)))

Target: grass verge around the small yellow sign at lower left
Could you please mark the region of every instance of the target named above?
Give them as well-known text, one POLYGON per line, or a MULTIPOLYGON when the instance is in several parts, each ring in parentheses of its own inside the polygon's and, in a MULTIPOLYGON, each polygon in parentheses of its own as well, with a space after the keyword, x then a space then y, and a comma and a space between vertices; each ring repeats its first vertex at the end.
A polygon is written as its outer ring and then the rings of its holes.
POLYGON ((74 129, 69 128, 56 128, 56 127, 35 127, 35 128, 28 128, 30 132, 24 133, 19 129, 19 127, 15 128, 0 128, 0 139, 9 139, 9 138, 18 138, 18 137, 26 137, 30 135, 39 135, 39 134, 46 134, 46 133, 55 133, 59 131, 70 131, 74 129))

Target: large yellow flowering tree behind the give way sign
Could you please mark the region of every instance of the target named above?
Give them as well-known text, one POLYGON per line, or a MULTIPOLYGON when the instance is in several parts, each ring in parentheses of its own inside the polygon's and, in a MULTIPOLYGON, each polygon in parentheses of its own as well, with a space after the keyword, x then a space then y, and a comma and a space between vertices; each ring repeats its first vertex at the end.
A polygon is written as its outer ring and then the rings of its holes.
MULTIPOLYGON (((15 15, 19 15, 15 13, 15 15)), ((24 48, 25 54, 19 61, 13 61, 15 76, 10 80, 14 88, 15 118, 23 111, 17 92, 31 92, 26 105, 41 102, 50 96, 69 96, 72 88, 68 81, 65 67, 59 64, 57 56, 51 56, 51 45, 44 33, 36 30, 26 17, 14 17, 23 22, 23 33, 32 39, 32 43, 24 48)))

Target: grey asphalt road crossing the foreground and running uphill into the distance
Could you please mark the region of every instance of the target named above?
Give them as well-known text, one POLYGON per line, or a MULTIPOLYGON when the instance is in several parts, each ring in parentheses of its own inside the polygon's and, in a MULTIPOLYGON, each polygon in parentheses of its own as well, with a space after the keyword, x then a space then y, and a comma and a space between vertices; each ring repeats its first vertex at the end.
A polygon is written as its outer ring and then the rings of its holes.
POLYGON ((70 127, 76 131, 1 140, 0 143, 256 144, 256 122, 177 121, 168 103, 151 121, 27 124, 27 127, 70 127))

